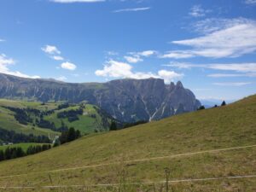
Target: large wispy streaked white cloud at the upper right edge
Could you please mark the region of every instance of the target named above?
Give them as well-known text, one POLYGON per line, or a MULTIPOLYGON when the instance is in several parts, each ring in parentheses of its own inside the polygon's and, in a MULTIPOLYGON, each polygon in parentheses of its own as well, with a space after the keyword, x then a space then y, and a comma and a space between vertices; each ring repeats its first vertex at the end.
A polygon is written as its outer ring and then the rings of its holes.
MULTIPOLYGON (((189 46, 166 52, 161 58, 189 58, 204 56, 211 58, 238 57, 256 50, 256 22, 254 20, 229 20, 229 24, 210 30, 205 36, 172 41, 172 44, 189 46), (212 32, 213 31, 213 32, 212 32)), ((207 29, 204 29, 206 32, 207 29)))

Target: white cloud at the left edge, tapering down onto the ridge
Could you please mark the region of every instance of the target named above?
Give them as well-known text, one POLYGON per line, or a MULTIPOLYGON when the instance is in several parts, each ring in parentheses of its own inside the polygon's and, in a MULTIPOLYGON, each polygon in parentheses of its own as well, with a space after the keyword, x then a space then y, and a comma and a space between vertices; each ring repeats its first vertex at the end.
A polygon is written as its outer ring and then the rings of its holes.
POLYGON ((9 75, 15 75, 20 78, 32 78, 32 79, 39 79, 40 77, 38 75, 30 76, 26 75, 24 73, 20 73, 18 71, 11 71, 9 69, 9 65, 14 65, 15 61, 11 58, 8 58, 6 55, 2 54, 0 55, 0 73, 5 73, 9 75))

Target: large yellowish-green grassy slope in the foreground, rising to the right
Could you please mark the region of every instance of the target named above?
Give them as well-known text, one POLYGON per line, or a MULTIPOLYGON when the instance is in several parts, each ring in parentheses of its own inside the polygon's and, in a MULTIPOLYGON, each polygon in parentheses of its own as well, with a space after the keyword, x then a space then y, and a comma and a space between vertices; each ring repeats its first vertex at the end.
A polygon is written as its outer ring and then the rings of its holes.
POLYGON ((160 191, 169 170, 169 191, 256 191, 256 177, 236 178, 256 175, 255 119, 256 96, 250 96, 222 108, 82 137, 1 162, 0 186, 35 187, 22 191, 160 191), (250 147, 237 148, 242 146, 250 147), (212 151, 219 148, 230 149, 212 151), (18 176, 6 177, 13 175, 18 176), (230 178, 173 182, 217 177, 230 178), (91 186, 107 183, 122 184, 91 186), (42 188, 49 185, 64 188, 42 188))

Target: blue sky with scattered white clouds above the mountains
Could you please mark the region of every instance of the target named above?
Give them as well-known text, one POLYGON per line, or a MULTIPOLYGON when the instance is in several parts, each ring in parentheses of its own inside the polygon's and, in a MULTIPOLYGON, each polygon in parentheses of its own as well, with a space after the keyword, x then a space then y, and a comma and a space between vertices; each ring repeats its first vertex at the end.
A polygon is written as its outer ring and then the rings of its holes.
POLYGON ((0 0, 0 73, 181 80, 200 99, 256 93, 255 0, 0 0))

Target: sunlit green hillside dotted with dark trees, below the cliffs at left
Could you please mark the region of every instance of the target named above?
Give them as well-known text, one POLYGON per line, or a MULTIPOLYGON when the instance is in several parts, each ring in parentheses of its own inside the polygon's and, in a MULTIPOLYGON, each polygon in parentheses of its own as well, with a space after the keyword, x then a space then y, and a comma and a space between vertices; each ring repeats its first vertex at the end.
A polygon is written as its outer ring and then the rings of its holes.
POLYGON ((75 129, 81 131, 82 133, 90 133, 94 131, 106 131, 108 130, 108 123, 110 119, 104 115, 101 115, 96 107, 93 105, 86 104, 83 107, 83 114, 79 115, 79 119, 73 122, 69 122, 67 118, 59 119, 57 118, 57 113, 63 111, 76 110, 80 108, 79 104, 73 104, 68 108, 58 107, 63 104, 63 102, 47 102, 42 104, 42 102, 25 102, 25 101, 12 101, 0 99, 0 128, 9 131, 21 132, 24 134, 34 134, 51 136, 59 135, 59 131, 50 130, 47 127, 39 127, 35 122, 39 117, 35 116, 34 113, 29 113, 32 118, 32 123, 27 125, 20 124, 15 119, 15 112, 9 108, 32 108, 40 110, 41 112, 47 112, 53 110, 53 113, 45 114, 44 120, 48 120, 50 123, 54 123, 55 127, 58 128, 63 122, 67 127, 74 127, 75 129))

